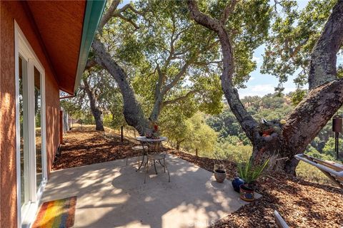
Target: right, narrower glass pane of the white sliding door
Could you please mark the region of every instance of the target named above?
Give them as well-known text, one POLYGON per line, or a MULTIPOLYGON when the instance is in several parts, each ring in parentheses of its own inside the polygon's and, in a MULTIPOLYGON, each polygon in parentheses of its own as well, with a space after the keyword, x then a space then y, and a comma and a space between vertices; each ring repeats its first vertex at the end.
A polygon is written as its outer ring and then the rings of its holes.
POLYGON ((43 160, 41 155, 41 73, 34 67, 34 120, 36 134, 36 189, 39 189, 42 176, 43 160))

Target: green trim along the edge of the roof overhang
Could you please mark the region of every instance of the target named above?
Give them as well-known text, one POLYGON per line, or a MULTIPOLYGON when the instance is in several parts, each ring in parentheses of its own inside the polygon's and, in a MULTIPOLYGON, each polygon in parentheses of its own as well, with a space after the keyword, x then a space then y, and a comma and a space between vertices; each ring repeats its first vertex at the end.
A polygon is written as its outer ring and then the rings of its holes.
POLYGON ((102 13, 106 5, 106 0, 88 0, 86 3, 86 11, 84 13, 84 26, 82 28, 82 38, 79 53, 79 62, 77 63, 76 79, 74 85, 74 94, 79 87, 82 73, 91 49, 91 43, 98 28, 102 13))

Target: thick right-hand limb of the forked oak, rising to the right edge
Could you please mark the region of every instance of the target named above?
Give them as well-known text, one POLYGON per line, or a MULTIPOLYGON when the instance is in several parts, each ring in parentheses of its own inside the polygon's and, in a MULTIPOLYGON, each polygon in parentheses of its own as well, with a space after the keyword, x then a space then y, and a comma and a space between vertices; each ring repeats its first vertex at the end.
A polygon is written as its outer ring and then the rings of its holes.
MULTIPOLYGON (((284 145, 292 142, 294 154, 304 151, 343 104, 343 81, 334 80, 337 78, 336 56, 343 39, 342 29, 343 1, 338 1, 311 54, 310 87, 317 88, 297 105, 284 125, 284 145)), ((291 148, 286 146, 285 150, 291 148)))

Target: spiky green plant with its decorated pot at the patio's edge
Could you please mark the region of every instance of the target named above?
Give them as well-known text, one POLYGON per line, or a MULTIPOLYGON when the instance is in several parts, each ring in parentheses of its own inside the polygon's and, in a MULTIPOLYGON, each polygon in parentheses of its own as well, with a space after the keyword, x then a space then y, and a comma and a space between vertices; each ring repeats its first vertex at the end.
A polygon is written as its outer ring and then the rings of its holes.
POLYGON ((242 162, 238 165, 239 177, 244 180, 244 184, 239 186, 239 194, 244 201, 254 201, 254 184, 262 175, 269 163, 269 159, 262 165, 255 165, 254 160, 250 159, 249 162, 242 162))

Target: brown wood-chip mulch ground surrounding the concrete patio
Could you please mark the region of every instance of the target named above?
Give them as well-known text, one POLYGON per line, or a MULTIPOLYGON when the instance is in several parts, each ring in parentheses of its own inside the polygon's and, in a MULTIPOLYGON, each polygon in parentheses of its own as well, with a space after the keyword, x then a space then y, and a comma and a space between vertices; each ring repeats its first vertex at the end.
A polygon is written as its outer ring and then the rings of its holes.
MULTIPOLYGON (((134 142, 120 142, 119 136, 109 133, 73 130, 64 135, 64 142, 54 170, 136 156, 131 150, 134 142)), ((170 149, 169 152, 211 172, 215 163, 224 164, 229 179, 237 175, 234 162, 170 149)), ((257 189, 263 197, 232 212, 212 227, 277 227, 275 209, 290 227, 343 227, 343 195, 337 187, 269 173, 259 180, 257 189)))

